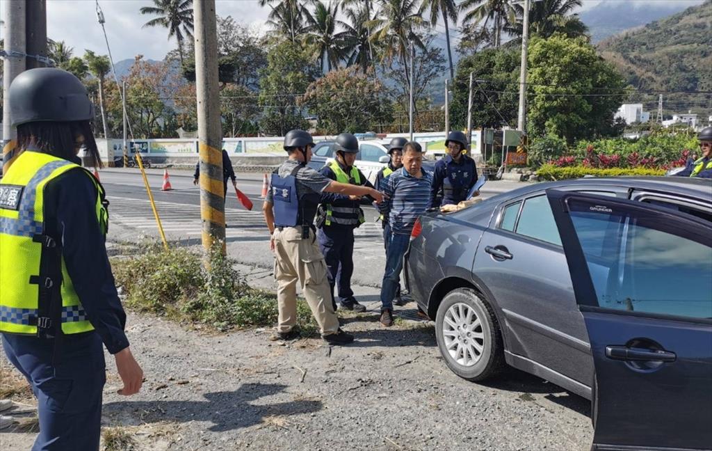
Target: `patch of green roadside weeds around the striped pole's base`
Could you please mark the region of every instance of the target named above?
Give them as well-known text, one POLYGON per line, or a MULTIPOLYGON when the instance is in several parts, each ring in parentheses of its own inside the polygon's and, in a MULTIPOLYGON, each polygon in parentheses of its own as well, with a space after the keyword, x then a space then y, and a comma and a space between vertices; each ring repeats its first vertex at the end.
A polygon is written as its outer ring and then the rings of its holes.
MULTIPOLYGON (((219 331, 276 323, 277 296, 251 288, 220 247, 211 252, 211 267, 205 269, 199 254, 190 249, 147 244, 141 255, 112 260, 116 284, 130 308, 174 321, 219 331)), ((305 301, 298 302, 297 312, 303 334, 314 335, 317 324, 305 301)))

